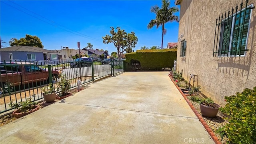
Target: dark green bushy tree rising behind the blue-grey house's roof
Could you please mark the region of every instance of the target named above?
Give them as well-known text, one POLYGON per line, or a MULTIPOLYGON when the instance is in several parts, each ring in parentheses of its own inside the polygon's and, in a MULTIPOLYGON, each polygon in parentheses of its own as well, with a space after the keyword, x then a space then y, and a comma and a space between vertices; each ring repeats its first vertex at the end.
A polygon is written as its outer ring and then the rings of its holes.
POLYGON ((10 46, 34 46, 44 48, 40 38, 37 36, 31 36, 29 34, 26 34, 25 38, 20 38, 20 40, 17 38, 11 38, 9 44, 10 46))

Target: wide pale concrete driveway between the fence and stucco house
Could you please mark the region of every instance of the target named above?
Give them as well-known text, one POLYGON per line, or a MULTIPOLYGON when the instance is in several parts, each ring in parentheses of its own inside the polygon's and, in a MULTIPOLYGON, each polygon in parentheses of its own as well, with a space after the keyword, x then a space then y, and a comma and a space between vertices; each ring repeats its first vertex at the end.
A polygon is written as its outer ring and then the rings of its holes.
POLYGON ((214 144, 168 72, 125 72, 0 128, 6 143, 214 144))

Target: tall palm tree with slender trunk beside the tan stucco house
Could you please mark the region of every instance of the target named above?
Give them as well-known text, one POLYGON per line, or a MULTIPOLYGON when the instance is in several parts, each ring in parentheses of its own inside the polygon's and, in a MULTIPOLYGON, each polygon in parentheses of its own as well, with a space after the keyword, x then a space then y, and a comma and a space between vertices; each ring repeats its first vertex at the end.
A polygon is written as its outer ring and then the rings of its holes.
POLYGON ((150 12, 154 12, 156 14, 156 19, 150 20, 148 24, 148 29, 153 28, 156 26, 156 29, 162 26, 162 46, 163 49, 163 40, 164 35, 166 34, 166 29, 164 28, 164 24, 167 22, 179 22, 178 16, 175 16, 174 13, 178 12, 179 8, 177 7, 170 7, 169 0, 162 0, 162 7, 159 8, 158 6, 152 6, 150 12))

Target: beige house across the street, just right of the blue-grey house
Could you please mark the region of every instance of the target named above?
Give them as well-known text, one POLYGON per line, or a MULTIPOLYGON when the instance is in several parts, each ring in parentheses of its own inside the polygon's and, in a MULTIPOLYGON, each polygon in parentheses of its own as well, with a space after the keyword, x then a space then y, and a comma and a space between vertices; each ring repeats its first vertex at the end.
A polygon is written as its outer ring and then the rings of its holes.
MULTIPOLYGON (((68 48, 68 47, 63 47, 63 49, 61 50, 52 50, 54 52, 58 52, 59 60, 71 60, 73 59, 73 56, 76 56, 76 54, 79 54, 79 50, 75 50, 73 48, 68 48)), ((85 56, 86 54, 88 54, 87 50, 80 50, 80 55, 81 56, 85 56)))

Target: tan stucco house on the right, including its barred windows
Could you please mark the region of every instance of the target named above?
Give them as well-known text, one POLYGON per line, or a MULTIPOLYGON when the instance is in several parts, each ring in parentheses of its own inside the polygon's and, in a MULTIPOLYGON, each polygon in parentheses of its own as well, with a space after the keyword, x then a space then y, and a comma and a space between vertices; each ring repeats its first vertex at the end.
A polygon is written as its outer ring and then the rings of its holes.
POLYGON ((176 0, 177 70, 216 103, 256 86, 256 0, 176 0))

